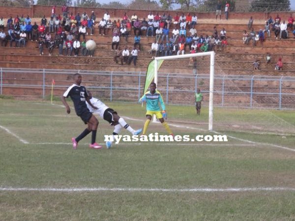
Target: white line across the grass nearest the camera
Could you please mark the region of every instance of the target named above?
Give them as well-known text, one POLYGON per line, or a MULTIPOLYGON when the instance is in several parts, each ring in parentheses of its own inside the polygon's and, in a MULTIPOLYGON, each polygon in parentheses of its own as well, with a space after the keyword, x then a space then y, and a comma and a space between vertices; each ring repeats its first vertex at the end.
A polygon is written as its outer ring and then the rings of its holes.
POLYGON ((193 188, 193 189, 159 189, 159 188, 13 188, 1 187, 0 191, 13 192, 168 192, 168 193, 216 193, 216 192, 257 192, 257 191, 295 191, 289 187, 257 187, 257 188, 193 188))

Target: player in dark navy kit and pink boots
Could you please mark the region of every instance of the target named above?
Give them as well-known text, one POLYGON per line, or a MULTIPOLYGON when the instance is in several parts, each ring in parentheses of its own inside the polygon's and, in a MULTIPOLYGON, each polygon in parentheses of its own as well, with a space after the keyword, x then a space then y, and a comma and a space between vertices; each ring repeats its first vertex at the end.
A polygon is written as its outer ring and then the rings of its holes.
POLYGON ((92 138, 89 147, 93 149, 101 149, 102 146, 95 142, 98 120, 87 108, 86 101, 93 109, 96 110, 97 108, 90 103, 87 90, 85 86, 81 85, 82 76, 80 74, 74 74, 74 82, 75 83, 71 85, 61 96, 61 101, 66 108, 66 112, 70 113, 70 107, 65 100, 65 98, 70 96, 74 103, 76 114, 81 117, 81 119, 84 121, 85 124, 88 125, 88 127, 77 138, 72 138, 73 149, 77 149, 78 142, 81 139, 85 138, 91 131, 92 138))

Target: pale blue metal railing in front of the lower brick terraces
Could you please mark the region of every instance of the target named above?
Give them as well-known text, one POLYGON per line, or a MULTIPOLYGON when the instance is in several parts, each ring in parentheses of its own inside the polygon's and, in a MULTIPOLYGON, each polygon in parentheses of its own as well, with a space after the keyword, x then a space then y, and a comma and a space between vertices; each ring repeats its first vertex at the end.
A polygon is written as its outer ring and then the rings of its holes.
MULTIPOLYGON (((137 102, 143 95, 144 72, 11 68, 0 68, 0 94, 5 88, 25 87, 37 89, 45 98, 50 94, 52 79, 55 89, 66 89, 74 73, 82 74, 83 83, 97 91, 101 99, 137 102)), ((193 104, 197 88, 207 96, 209 75, 159 73, 158 89, 167 104, 193 104)), ((215 75, 214 106, 295 109, 295 77, 215 75)))

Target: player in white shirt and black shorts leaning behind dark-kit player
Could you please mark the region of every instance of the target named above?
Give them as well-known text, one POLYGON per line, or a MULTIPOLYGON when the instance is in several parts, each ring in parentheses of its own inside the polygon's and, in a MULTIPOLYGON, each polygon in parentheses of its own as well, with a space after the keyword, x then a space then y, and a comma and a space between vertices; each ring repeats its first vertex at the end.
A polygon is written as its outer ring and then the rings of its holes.
MULTIPOLYGON (((92 97, 92 94, 89 90, 87 91, 87 93, 89 95, 91 104, 97 108, 97 110, 95 110, 87 103, 89 111, 92 113, 98 113, 101 118, 108 121, 112 126, 115 127, 113 136, 118 135, 122 128, 125 128, 132 135, 139 135, 142 132, 142 129, 139 129, 137 131, 133 130, 132 127, 130 127, 130 125, 127 124, 122 117, 118 116, 118 113, 116 111, 106 106, 99 99, 92 97)), ((114 137, 113 140, 115 140, 114 137)), ((106 142, 107 148, 111 148, 112 142, 113 141, 106 142)))

